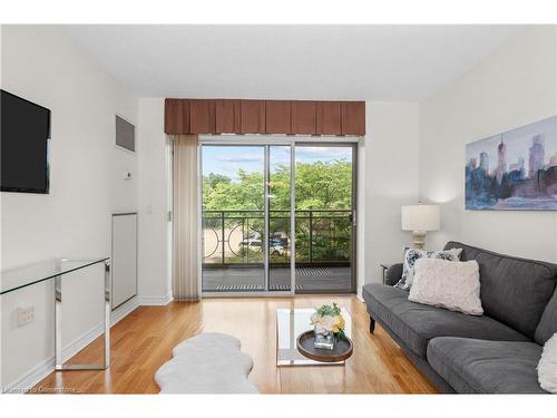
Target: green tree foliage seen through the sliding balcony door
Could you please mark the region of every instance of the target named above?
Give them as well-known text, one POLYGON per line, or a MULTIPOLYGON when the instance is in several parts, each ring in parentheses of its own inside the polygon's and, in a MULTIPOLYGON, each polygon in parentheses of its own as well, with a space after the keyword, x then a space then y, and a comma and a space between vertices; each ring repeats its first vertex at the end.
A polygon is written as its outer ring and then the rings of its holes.
MULTIPOLYGON (((296 260, 310 261, 310 240, 313 261, 349 261, 351 223, 346 213, 328 213, 320 210, 350 210, 352 200, 352 163, 345 159, 296 163, 296 260), (313 211, 310 213, 303 211, 313 211), (311 227, 310 227, 311 222, 311 227)), ((263 173, 247 173, 238 168, 237 181, 222 174, 209 173, 203 177, 203 208, 205 211, 262 211, 248 216, 250 230, 263 236, 264 187, 263 173)), ((290 166, 278 165, 270 175, 270 233, 287 231, 290 216, 290 166), (273 212, 283 211, 283 212, 273 212)), ((219 214, 206 214, 207 227, 221 227, 219 214)), ((225 216, 243 216, 225 213, 225 216)), ((226 227, 235 225, 226 220, 226 227)), ((244 252, 234 260, 258 261, 261 254, 244 252)), ((273 261, 286 262, 286 255, 273 255, 273 261)))

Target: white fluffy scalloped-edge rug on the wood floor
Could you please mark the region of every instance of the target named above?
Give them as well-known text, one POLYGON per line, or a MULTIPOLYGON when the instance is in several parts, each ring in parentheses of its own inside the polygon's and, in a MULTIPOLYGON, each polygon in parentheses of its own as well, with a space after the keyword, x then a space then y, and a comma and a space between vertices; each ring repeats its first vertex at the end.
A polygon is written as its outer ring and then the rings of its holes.
POLYGON ((155 373, 160 393, 258 393, 247 377, 252 358, 237 338, 207 332, 184 340, 155 373))

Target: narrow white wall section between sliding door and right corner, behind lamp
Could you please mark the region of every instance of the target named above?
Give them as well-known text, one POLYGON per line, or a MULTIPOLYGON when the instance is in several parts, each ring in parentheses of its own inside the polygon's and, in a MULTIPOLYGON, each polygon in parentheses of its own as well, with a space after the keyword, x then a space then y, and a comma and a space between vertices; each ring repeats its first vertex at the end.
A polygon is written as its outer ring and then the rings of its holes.
MULTIPOLYGON (((402 260, 411 236, 400 229, 400 206, 418 203, 419 106, 365 104, 365 283, 381 282, 380 264, 402 260)), ((361 291, 361 289, 359 289, 361 291)))

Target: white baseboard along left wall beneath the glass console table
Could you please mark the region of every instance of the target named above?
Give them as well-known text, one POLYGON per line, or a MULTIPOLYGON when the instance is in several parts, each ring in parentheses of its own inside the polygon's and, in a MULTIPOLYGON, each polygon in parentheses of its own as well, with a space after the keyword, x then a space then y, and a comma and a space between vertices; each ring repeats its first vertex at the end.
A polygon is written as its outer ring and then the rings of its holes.
MULTIPOLYGON (((114 327, 116 323, 126 318, 131 311, 139 307, 139 299, 133 298, 129 301, 125 302, 123 305, 118 307, 110 314, 110 327, 114 327)), ((102 323, 98 323, 92 327, 88 331, 80 334, 74 341, 69 342, 62 348, 62 359, 67 361, 68 359, 76 356, 79 351, 81 351, 85 347, 90 344, 96 338, 105 332, 105 328, 102 323)), ((14 381, 8 383, 2 387, 2 393, 22 393, 30 390, 35 385, 45 379, 48 375, 50 375, 55 369, 55 357, 50 357, 45 361, 40 362, 36 367, 33 367, 30 371, 16 379, 14 381)))

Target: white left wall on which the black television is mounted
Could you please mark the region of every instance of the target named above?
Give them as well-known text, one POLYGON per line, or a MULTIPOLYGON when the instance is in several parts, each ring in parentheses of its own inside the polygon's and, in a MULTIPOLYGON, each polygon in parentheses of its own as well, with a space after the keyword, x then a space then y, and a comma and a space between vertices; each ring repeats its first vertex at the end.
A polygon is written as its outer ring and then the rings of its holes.
MULTIPOLYGON (((49 108, 52 138, 50 194, 1 194, 1 268, 110 255, 111 213, 137 211, 138 204, 137 156, 114 145, 115 114, 136 124, 137 100, 59 29, 1 30, 2 88, 49 108), (134 175, 129 181, 124 179, 127 171, 134 175)), ((102 270, 74 279, 62 290, 65 343, 101 320, 102 270)), ((49 364, 53 356, 52 284, 4 295, 1 308, 6 386, 49 364), (35 322, 16 328, 18 305, 35 305, 35 322)))

